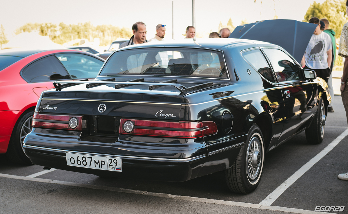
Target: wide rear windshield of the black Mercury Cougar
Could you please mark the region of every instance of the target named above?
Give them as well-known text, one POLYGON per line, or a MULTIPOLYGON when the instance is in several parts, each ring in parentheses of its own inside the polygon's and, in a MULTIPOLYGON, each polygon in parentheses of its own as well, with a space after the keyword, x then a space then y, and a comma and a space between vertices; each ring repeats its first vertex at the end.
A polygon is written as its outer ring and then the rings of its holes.
POLYGON ((193 48, 140 48, 115 52, 99 76, 117 75, 228 78, 221 52, 193 48))

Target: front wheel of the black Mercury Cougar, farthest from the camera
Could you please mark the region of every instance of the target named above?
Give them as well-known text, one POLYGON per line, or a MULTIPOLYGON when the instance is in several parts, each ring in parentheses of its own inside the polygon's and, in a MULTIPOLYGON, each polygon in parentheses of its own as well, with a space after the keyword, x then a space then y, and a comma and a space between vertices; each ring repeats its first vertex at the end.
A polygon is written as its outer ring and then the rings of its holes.
POLYGON ((317 112, 311 125, 306 129, 306 139, 310 144, 319 144, 323 141, 325 130, 325 105, 320 98, 317 112))

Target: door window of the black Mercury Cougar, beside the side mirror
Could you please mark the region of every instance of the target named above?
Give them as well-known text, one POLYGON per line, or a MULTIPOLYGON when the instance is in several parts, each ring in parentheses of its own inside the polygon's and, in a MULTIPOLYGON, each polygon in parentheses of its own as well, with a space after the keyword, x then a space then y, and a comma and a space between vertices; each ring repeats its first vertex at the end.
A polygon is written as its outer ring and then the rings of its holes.
POLYGON ((263 51, 271 62, 278 82, 301 79, 300 67, 284 51, 279 49, 263 49, 263 51))

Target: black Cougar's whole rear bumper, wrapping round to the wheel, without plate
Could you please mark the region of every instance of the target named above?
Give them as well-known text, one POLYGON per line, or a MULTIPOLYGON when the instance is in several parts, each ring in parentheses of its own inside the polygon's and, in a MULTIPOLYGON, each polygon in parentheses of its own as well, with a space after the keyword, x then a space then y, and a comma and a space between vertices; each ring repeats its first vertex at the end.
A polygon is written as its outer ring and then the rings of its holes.
MULTIPOLYGON (((119 178, 159 181, 187 181, 231 167, 242 144, 208 155, 203 138, 169 139, 119 135, 116 142, 87 142, 79 135, 63 137, 62 132, 35 129, 23 147, 31 162, 49 168, 119 178), (154 142, 157 141, 157 142, 154 142), (119 157, 122 172, 68 166, 66 152, 119 157), (228 163, 228 164, 227 164, 228 163)), ((239 138, 233 140, 237 143, 239 138)))

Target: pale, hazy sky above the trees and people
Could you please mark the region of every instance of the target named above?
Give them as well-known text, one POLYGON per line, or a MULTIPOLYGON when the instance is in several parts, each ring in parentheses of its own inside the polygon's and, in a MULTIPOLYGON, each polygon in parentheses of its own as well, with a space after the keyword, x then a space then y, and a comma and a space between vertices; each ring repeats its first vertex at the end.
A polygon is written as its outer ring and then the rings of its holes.
MULTIPOLYGON (((316 0, 322 3, 325 0, 316 0)), ((259 20, 279 19, 303 20, 313 0, 195 0, 197 37, 207 37, 217 31, 219 23, 226 25, 229 18, 238 26, 243 19, 248 23, 259 20)), ((7 38, 25 23, 111 24, 132 28, 135 22, 147 25, 147 38, 154 37, 157 24, 166 25, 166 39, 183 38, 186 27, 192 25, 192 0, 11 0, 0 3, 0 25, 5 28, 7 38), (174 2, 174 25, 172 24, 172 2, 174 2)), ((320 17, 319 17, 320 18, 320 17)))

